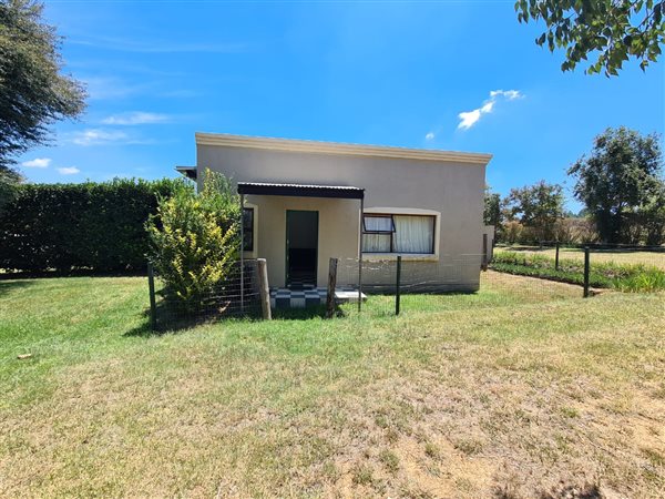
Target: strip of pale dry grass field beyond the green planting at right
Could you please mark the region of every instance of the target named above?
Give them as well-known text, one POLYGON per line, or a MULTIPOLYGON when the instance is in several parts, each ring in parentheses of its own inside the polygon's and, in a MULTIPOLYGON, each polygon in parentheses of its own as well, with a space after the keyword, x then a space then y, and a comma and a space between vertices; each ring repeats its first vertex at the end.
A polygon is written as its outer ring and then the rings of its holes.
MULTIPOLYGON (((556 249, 546 247, 540 249, 538 246, 498 246, 494 252, 519 252, 528 254, 544 255, 554 258, 556 249)), ((577 248, 562 247, 559 252, 560 258, 584 258, 584 251, 577 248)), ((591 261, 614 262, 617 264, 645 264, 665 268, 665 248, 659 252, 633 252, 622 249, 592 249, 591 261)))

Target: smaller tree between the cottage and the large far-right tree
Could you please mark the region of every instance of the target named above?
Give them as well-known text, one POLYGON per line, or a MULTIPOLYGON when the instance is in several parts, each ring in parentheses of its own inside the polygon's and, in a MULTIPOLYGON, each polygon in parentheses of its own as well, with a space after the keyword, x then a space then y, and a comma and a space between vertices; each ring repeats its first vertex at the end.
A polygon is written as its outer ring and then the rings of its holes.
POLYGON ((504 201, 510 220, 516 220, 540 241, 551 241, 563 218, 563 187, 540 181, 513 189, 504 201))

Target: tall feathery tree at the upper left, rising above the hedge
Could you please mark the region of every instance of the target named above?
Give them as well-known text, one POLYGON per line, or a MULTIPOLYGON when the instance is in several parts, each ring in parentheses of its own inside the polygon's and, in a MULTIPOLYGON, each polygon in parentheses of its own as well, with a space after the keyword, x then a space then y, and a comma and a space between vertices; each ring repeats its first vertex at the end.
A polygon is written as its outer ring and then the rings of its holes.
POLYGON ((81 83, 61 74, 62 38, 42 11, 33 0, 0 0, 0 172, 45 143, 51 124, 85 106, 81 83))

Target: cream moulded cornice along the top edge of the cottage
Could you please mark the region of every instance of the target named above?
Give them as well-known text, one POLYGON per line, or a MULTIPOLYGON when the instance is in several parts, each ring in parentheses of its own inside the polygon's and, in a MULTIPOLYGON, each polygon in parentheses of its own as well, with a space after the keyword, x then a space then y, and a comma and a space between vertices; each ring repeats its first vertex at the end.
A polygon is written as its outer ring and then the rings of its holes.
POLYGON ((391 157, 399 160, 438 161, 487 165, 491 154, 440 151, 434 149, 408 149, 387 145, 359 145, 338 142, 301 141, 293 139, 268 139, 259 136, 231 135, 226 133, 196 132, 197 145, 260 149, 268 151, 335 154, 347 156, 391 157))

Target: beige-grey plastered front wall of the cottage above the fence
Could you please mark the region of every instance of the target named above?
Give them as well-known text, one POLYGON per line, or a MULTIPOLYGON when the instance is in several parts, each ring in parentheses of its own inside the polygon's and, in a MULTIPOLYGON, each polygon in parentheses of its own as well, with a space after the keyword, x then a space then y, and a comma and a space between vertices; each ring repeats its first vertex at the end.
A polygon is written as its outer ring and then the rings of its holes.
MULTIPOLYGON (((206 167, 235 182, 364 187, 365 207, 439 212, 438 258, 417 263, 442 288, 473 291, 482 248, 483 164, 332 155, 197 144, 200 182, 206 167)), ((356 257, 359 202, 315 197, 247 196, 259 206, 257 255, 268 262, 272 286, 284 285, 286 210, 319 211, 318 284, 330 256, 356 257)), ((407 256, 405 256, 407 258, 407 256)))

